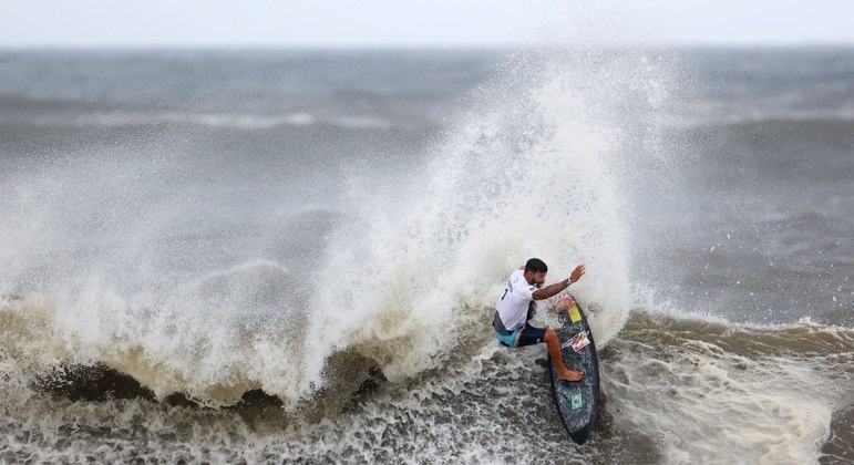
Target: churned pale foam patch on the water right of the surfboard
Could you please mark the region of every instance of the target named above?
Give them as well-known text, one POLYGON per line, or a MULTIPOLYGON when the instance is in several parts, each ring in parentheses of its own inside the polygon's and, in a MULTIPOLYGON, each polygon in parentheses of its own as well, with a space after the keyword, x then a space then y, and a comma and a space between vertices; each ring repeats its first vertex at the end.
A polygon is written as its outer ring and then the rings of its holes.
MULTIPOLYGON (((751 344, 748 333, 721 338, 730 347, 751 344)), ((651 435, 666 463, 816 463, 838 395, 822 371, 726 348, 621 341, 605 365, 609 407, 620 423, 651 435)))

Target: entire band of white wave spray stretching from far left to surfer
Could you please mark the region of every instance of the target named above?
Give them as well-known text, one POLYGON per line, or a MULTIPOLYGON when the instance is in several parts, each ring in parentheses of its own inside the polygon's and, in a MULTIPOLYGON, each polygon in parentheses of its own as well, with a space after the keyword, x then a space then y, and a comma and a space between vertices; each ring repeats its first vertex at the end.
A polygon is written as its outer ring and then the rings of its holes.
MULTIPOLYGON (((627 173, 649 153, 635 149, 637 115, 659 104, 662 75, 642 53, 510 55, 424 154, 389 161, 409 166, 402 176, 344 170, 346 200, 329 215, 269 218, 255 206, 212 228, 216 198, 199 186, 160 193, 141 180, 176 183, 179 153, 55 163, 45 179, 69 193, 42 211, 114 216, 105 246, 60 261, 73 264, 69 279, 48 276, 43 338, 62 348, 55 362, 103 363, 158 399, 224 406, 263 390, 286 410, 326 410, 377 368, 410 379, 488 335, 503 280, 537 256, 553 280, 587 265, 572 291, 605 345, 630 302, 627 173), (103 184, 107 170, 120 175, 103 184)), ((43 239, 61 245, 64 224, 48 221, 43 239)))

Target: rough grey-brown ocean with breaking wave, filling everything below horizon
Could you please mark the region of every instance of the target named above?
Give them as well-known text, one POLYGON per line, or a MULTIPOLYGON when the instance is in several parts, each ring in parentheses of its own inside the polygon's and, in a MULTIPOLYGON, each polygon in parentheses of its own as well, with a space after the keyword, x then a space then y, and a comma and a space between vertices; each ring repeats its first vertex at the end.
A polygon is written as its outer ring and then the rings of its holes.
POLYGON ((0 462, 852 463, 852 134, 851 49, 2 51, 0 462))

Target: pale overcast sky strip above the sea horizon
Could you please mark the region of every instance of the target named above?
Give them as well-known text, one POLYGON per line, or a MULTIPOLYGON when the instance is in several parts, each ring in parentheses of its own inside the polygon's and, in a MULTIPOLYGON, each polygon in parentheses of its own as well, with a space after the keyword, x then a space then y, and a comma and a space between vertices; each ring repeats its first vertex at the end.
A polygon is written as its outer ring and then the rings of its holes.
POLYGON ((0 0, 0 46, 850 44, 854 0, 0 0))

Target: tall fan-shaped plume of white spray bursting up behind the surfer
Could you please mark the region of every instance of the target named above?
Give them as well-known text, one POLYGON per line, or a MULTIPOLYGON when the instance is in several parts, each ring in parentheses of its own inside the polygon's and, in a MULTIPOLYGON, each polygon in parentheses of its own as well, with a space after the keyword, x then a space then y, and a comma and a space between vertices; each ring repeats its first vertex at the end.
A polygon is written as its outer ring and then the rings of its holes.
POLYGON ((649 148, 629 151, 639 123, 625 110, 654 112, 667 74, 644 54, 511 62, 469 99, 426 166, 393 186, 368 175, 351 184, 350 220, 321 272, 335 286, 312 299, 315 375, 326 354, 347 348, 394 381, 440 366, 490 331, 503 279, 534 256, 554 280, 587 265, 572 290, 603 345, 623 327, 625 187, 634 166, 657 163, 644 159, 649 148))

